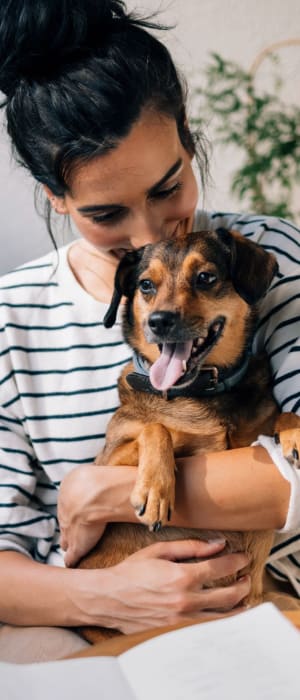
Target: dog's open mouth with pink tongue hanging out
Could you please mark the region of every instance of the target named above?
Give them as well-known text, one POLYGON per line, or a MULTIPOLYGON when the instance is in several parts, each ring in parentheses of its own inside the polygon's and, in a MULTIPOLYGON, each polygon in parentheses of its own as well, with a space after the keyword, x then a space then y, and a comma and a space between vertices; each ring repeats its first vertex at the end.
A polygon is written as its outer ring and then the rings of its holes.
POLYGON ((160 357, 150 368, 154 389, 167 391, 172 386, 187 386, 194 381, 205 357, 219 340, 225 326, 224 316, 218 316, 201 335, 184 342, 159 344, 160 357))

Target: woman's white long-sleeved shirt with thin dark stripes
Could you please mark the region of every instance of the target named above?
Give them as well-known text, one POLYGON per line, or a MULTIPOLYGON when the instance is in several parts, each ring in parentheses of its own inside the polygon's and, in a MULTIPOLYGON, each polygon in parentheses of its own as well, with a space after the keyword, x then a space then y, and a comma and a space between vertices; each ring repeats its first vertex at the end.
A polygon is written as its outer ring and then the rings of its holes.
MULTIPOLYGON (((278 259, 254 349, 269 354, 282 410, 300 412, 299 230, 270 217, 196 213, 195 230, 221 226, 239 230, 278 259)), ((54 565, 63 565, 60 482, 101 450, 119 404, 118 376, 131 356, 120 315, 104 329, 107 305, 79 285, 67 252, 68 246, 0 281, 0 549, 54 565)), ((280 535, 272 566, 285 577, 278 561, 288 561, 300 581, 300 529, 299 536, 293 532, 292 550, 289 535, 280 535)))

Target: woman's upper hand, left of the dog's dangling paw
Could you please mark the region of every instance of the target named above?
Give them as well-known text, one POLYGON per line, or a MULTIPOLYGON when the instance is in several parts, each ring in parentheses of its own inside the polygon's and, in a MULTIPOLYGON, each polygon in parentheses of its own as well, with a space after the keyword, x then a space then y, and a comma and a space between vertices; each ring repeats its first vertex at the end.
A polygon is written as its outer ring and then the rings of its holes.
POLYGON ((129 495, 134 467, 84 464, 65 476, 60 485, 57 514, 66 566, 74 566, 102 537, 108 521, 124 521, 131 513, 129 495))

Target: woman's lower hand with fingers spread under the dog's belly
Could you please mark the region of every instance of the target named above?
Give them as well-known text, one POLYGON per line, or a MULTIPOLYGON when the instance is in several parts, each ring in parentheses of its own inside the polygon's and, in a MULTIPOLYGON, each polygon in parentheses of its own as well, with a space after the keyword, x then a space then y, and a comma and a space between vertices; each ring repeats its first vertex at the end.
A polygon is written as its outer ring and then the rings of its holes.
POLYGON ((222 576, 236 574, 249 563, 244 553, 220 556, 224 546, 225 541, 159 542, 116 566, 102 569, 97 572, 97 590, 104 600, 98 617, 94 599, 88 624, 115 627, 129 634, 208 617, 215 612, 224 615, 240 606, 250 590, 249 576, 242 576, 226 588, 203 588, 222 576), (216 554, 219 556, 213 558, 216 554), (194 557, 202 561, 182 562, 194 557))

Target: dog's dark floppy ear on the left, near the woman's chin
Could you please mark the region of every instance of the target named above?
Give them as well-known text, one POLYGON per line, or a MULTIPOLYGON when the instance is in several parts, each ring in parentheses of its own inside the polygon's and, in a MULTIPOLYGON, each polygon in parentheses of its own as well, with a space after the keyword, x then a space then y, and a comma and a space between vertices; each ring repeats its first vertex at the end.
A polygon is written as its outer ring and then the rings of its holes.
POLYGON ((129 251, 119 262, 113 295, 103 320, 105 328, 111 328, 114 325, 122 297, 130 297, 134 292, 136 266, 143 256, 143 251, 144 248, 129 251))

